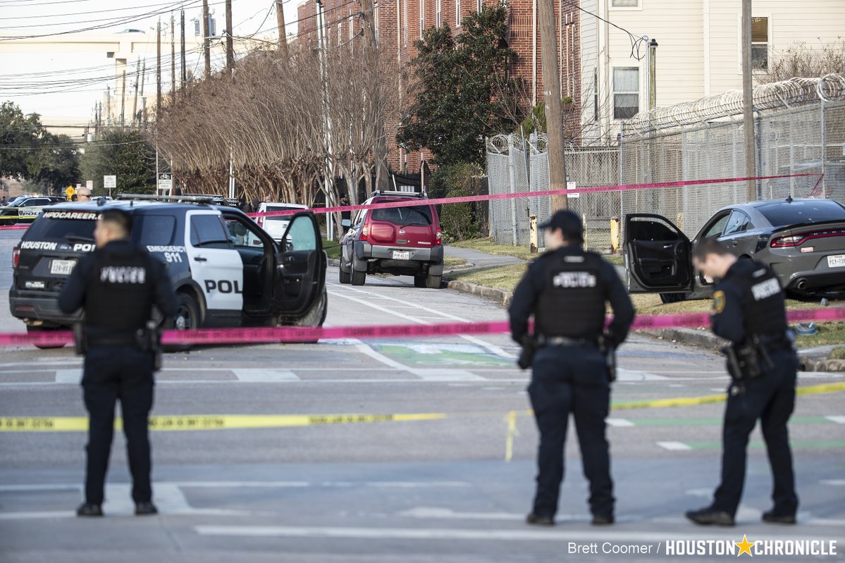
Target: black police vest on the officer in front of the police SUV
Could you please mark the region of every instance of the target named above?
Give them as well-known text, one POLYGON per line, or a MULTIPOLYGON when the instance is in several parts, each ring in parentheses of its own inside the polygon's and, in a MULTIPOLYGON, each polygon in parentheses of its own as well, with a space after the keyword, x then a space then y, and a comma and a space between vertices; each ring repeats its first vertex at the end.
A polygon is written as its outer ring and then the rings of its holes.
POLYGON ((85 326, 98 336, 120 336, 144 328, 155 287, 150 254, 128 243, 97 249, 85 295, 85 326), (104 334, 106 331, 106 334, 104 334))

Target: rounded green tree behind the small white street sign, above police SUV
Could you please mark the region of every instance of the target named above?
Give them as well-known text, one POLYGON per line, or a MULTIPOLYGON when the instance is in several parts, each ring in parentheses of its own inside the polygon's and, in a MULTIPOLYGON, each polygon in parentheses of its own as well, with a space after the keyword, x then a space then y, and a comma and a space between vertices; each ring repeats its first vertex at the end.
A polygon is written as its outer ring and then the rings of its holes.
POLYGON ((82 179, 94 181, 94 195, 108 195, 103 176, 117 176, 117 193, 155 193, 155 149, 138 131, 106 129, 85 147, 82 179))

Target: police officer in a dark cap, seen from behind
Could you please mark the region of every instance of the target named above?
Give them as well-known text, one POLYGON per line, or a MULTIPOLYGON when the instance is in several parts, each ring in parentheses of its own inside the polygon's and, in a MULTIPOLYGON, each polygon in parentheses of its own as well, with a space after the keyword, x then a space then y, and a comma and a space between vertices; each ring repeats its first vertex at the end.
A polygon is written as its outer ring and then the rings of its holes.
POLYGON ((558 211, 540 227, 545 229, 546 253, 528 267, 510 305, 511 336, 523 347, 535 343, 538 347, 528 386, 540 431, 537 495, 526 521, 554 524, 572 413, 590 481, 592 523, 612 524, 613 481, 604 423, 611 375, 599 343, 613 348, 624 342, 634 321, 634 306, 613 265, 582 249, 584 227, 575 213, 558 211), (608 301, 613 321, 605 335, 608 301), (532 314, 533 335, 528 331, 532 314))

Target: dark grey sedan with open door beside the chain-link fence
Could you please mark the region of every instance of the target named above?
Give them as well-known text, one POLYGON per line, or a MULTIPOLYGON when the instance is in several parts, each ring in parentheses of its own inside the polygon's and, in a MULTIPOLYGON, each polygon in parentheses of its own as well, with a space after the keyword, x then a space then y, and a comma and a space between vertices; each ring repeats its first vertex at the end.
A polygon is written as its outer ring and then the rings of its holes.
POLYGON ((845 294, 845 206, 791 198, 728 205, 691 241, 666 217, 625 216, 628 291, 659 292, 663 303, 709 295, 713 281, 696 272, 691 261, 695 244, 706 238, 770 266, 793 296, 845 294))

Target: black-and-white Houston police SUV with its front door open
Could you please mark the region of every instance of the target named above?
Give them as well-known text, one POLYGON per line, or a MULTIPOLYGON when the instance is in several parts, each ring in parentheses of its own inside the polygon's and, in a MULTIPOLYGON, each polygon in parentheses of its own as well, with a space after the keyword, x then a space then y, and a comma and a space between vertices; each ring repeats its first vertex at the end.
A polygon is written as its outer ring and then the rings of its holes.
POLYGON ((276 243, 237 208, 118 200, 52 205, 14 248, 9 307, 28 331, 79 321, 80 312, 59 311, 58 292, 94 251, 96 219, 109 208, 130 213, 132 242, 167 266, 179 298, 173 328, 323 324, 326 255, 313 213, 292 216, 276 243))

